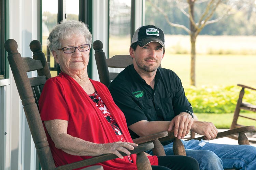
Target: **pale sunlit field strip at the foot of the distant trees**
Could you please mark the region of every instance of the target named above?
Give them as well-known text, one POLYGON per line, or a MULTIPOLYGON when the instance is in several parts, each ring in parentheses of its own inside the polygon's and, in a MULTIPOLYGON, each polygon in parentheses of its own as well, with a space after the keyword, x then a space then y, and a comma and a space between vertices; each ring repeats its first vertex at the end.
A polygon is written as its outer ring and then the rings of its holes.
MULTIPOLYGON (((167 53, 190 53, 190 37, 166 35, 167 53)), ((197 54, 256 54, 256 36, 199 35, 196 39, 197 54)))

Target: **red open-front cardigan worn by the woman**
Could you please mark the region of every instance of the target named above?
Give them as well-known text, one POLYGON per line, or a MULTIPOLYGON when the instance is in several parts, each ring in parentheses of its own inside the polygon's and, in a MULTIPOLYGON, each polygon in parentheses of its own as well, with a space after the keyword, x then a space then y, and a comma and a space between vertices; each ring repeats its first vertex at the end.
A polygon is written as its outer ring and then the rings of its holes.
MULTIPOLYGON (((127 142, 132 142, 123 112, 116 106, 108 88, 100 82, 91 80, 99 96, 109 108, 127 142)), ((39 111, 42 120, 68 120, 67 133, 94 143, 118 141, 117 135, 105 117, 86 94, 83 88, 69 75, 61 72, 57 77, 48 79, 39 99, 39 111)), ((74 156, 57 149, 45 129, 49 147, 56 167, 88 159, 91 156, 74 156)), ((134 163, 127 158, 112 159, 97 165, 104 170, 136 170, 136 154, 131 155, 134 163)), ((156 156, 148 156, 151 165, 158 165, 156 156)), ((84 167, 83 167, 84 168, 84 167)), ((80 169, 80 168, 79 168, 80 169)))

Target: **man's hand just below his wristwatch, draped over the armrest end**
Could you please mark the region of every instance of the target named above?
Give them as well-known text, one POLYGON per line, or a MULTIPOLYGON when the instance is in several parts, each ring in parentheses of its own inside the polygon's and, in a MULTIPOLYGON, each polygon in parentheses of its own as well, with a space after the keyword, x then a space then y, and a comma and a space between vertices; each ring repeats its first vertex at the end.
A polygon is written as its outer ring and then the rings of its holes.
POLYGON ((172 119, 168 131, 171 131, 174 128, 174 136, 178 139, 184 139, 190 131, 193 122, 194 119, 191 115, 186 112, 182 112, 172 119))

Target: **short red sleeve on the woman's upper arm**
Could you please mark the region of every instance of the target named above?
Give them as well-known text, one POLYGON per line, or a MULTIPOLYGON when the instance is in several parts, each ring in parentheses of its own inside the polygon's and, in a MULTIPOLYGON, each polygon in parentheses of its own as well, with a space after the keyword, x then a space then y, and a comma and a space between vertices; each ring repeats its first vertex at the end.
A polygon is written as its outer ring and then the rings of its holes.
POLYGON ((69 120, 69 109, 65 100, 63 85, 54 78, 48 79, 39 99, 42 120, 69 120))

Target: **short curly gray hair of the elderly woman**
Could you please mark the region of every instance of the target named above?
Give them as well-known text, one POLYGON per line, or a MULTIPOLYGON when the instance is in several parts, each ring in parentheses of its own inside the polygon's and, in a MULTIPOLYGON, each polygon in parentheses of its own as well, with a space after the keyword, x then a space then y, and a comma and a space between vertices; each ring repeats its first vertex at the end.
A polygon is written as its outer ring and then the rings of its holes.
POLYGON ((61 21, 49 34, 49 50, 58 51, 61 48, 60 39, 69 39, 73 35, 82 35, 85 43, 91 46, 92 35, 87 24, 77 20, 61 21))

